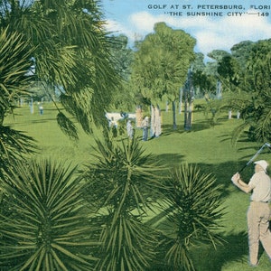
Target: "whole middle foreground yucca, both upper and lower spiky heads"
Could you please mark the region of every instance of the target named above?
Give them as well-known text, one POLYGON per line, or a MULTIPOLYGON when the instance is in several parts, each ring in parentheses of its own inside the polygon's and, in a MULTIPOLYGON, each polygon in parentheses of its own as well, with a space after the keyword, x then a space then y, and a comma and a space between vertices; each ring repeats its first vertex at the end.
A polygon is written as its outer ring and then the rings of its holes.
POLYGON ((136 139, 97 144, 97 163, 86 175, 86 191, 91 192, 89 201, 98 204, 101 226, 97 269, 145 270, 154 257, 156 240, 143 220, 159 194, 159 168, 136 139))

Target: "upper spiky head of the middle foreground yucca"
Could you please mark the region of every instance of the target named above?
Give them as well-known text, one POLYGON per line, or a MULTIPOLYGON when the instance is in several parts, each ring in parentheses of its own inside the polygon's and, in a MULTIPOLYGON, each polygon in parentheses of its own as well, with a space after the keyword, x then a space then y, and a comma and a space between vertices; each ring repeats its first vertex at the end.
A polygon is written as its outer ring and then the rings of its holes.
POLYGON ((86 175, 89 177, 91 197, 96 196, 100 207, 112 206, 120 210, 123 206, 119 204, 119 199, 125 201, 128 197, 130 210, 136 208, 145 213, 150 192, 154 187, 161 187, 161 182, 155 180, 161 167, 151 154, 145 154, 138 139, 124 139, 120 144, 109 139, 106 142, 97 140, 96 143, 96 154, 93 156, 97 162, 89 167, 86 175))

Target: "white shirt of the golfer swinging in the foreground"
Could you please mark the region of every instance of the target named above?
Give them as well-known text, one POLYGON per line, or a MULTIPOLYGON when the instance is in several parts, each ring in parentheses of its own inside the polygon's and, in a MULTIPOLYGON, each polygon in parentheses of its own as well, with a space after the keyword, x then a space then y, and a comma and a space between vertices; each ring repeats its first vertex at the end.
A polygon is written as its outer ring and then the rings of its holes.
POLYGON ((265 171, 254 173, 248 185, 253 188, 251 201, 271 201, 271 180, 265 171))

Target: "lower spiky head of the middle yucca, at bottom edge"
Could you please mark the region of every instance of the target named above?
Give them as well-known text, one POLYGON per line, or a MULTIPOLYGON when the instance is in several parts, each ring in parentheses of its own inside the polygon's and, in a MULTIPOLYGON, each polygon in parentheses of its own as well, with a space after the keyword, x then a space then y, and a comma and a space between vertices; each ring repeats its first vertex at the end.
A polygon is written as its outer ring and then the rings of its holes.
POLYGON ((103 230, 98 270, 133 271, 145 270, 154 257, 157 240, 152 229, 130 216, 119 216, 116 223, 108 220, 103 230))

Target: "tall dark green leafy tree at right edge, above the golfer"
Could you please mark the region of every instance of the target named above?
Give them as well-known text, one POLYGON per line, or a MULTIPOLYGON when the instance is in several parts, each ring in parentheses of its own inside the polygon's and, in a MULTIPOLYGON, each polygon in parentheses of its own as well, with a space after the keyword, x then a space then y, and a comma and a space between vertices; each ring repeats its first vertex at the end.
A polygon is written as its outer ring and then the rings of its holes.
POLYGON ((237 140, 245 129, 251 139, 259 142, 269 141, 271 128, 271 41, 255 42, 249 54, 247 70, 244 75, 242 98, 235 100, 244 118, 235 130, 233 139, 237 140))

